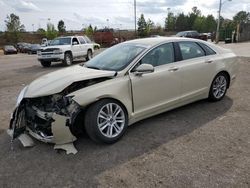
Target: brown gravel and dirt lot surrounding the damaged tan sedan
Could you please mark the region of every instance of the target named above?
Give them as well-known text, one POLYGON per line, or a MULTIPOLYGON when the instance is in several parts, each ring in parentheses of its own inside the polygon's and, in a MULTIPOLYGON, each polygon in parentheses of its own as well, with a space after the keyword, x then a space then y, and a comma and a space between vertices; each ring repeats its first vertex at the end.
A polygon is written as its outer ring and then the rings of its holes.
MULTIPOLYGON (((243 46, 249 54, 250 43, 243 46)), ((113 145, 83 137, 78 154, 66 155, 40 142, 23 148, 15 141, 12 151, 5 133, 24 85, 63 66, 42 68, 33 55, 0 56, 0 187, 250 187, 250 58, 241 60, 224 100, 136 123, 113 145)))

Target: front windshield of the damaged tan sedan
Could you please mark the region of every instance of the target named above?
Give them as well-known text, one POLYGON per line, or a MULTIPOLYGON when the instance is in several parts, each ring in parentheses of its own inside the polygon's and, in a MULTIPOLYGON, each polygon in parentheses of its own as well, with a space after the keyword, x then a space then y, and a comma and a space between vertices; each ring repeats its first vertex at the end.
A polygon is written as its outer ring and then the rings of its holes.
POLYGON ((146 48, 131 44, 119 44, 88 61, 85 66, 100 70, 120 71, 127 67, 146 48))

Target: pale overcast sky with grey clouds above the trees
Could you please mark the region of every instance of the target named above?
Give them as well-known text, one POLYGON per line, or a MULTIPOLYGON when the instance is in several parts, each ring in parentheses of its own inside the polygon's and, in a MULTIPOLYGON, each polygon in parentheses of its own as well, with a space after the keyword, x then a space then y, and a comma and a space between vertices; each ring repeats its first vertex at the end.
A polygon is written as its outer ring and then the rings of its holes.
MULTIPOLYGON (((143 13, 164 26, 168 8, 178 14, 197 6, 203 15, 217 17, 219 0, 137 0, 137 17, 143 13)), ((18 15, 26 30, 46 27, 48 19, 55 24, 64 20, 67 30, 79 30, 89 24, 104 28, 134 27, 134 0, 0 0, 0 30, 8 14, 18 15)), ((225 0, 222 16, 231 19, 238 11, 250 12, 250 0, 225 0)))

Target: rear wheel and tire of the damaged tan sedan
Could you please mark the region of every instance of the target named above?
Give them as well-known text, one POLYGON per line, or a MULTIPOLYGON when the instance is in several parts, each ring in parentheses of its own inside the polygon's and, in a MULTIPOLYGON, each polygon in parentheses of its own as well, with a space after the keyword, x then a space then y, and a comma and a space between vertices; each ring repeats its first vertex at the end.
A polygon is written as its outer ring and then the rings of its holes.
POLYGON ((209 97, 210 101, 220 101, 226 95, 229 85, 228 75, 221 72, 215 76, 210 87, 209 97))

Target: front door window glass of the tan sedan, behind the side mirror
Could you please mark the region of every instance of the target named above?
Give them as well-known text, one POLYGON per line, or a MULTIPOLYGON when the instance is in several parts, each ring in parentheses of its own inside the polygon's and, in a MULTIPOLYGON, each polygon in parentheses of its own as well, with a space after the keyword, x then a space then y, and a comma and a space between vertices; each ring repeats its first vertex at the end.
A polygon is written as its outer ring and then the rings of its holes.
POLYGON ((151 64, 153 65, 153 67, 173 62, 174 62, 173 43, 163 44, 161 46, 154 48, 140 61, 141 64, 151 64))

